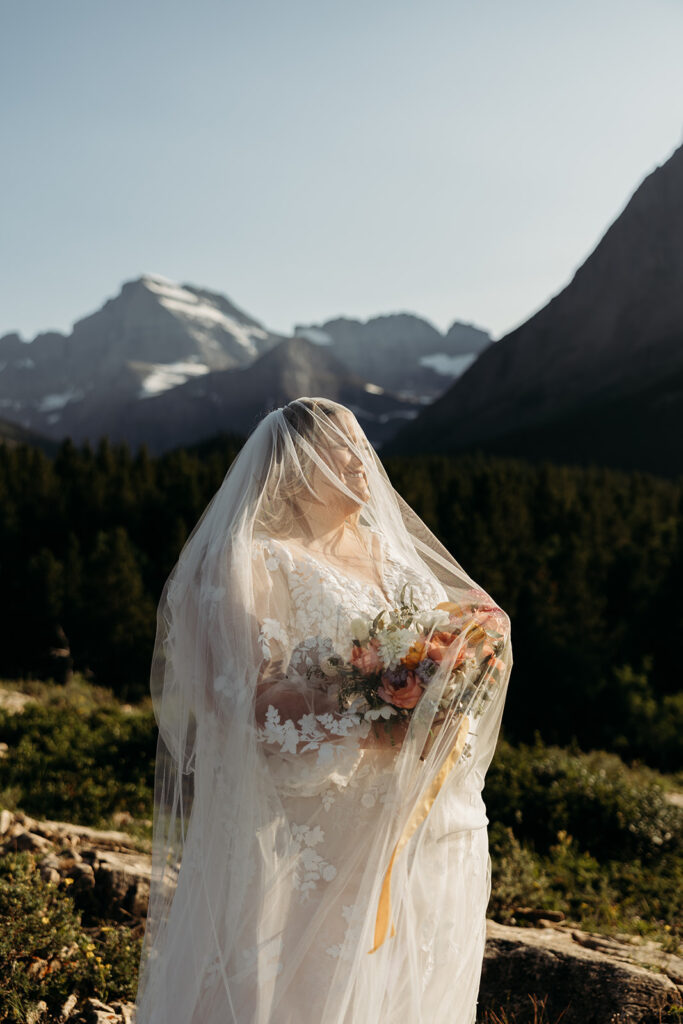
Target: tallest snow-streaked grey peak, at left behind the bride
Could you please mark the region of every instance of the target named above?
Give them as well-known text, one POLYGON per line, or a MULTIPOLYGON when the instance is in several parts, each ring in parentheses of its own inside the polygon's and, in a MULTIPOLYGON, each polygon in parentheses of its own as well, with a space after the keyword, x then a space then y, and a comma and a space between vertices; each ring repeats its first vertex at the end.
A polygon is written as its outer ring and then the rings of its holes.
POLYGON ((253 362, 283 340, 222 295, 144 274, 123 285, 71 335, 40 334, 30 344, 0 338, 0 411, 53 437, 67 410, 79 418, 115 409, 214 370, 253 362))

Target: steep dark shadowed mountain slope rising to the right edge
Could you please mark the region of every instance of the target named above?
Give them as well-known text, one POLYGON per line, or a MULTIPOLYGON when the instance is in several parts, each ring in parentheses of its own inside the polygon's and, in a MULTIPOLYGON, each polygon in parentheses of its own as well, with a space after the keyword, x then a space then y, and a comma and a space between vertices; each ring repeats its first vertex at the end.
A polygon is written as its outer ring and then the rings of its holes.
MULTIPOLYGON (((387 451, 479 445, 523 456, 524 432, 528 440, 586 403, 611 404, 657 380, 666 387, 683 368, 681 238, 683 145, 643 179, 571 281, 483 351, 387 451)), ((603 457, 618 454, 612 437, 603 457)))

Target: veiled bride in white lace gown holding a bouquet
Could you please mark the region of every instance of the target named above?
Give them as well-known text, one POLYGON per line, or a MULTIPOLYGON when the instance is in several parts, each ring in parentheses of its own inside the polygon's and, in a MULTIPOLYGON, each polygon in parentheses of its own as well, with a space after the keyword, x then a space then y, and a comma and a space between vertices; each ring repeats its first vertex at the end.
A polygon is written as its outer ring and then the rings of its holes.
POLYGON ((138 1024, 474 1024, 511 666, 353 414, 265 416, 159 604, 138 1024))

